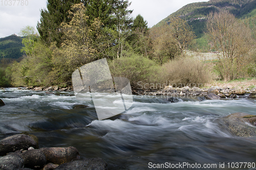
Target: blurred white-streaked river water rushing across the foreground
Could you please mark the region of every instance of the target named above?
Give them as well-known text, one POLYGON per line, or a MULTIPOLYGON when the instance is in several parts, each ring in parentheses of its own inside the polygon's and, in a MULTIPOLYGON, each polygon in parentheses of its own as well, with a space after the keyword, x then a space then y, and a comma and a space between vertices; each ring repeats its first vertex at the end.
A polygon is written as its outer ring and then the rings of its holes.
POLYGON ((196 163, 200 169, 228 169, 228 163, 230 169, 250 169, 234 163, 256 162, 256 137, 234 136, 218 125, 218 118, 231 113, 256 115, 255 100, 170 103, 161 96, 134 95, 129 110, 98 120, 93 103, 77 100, 73 92, 6 88, 0 99, 6 104, 0 107, 0 139, 28 132, 38 137, 40 148, 73 146, 81 157, 104 159, 109 169, 161 169, 160 164, 197 169, 196 163), (76 104, 89 107, 73 109, 76 104))

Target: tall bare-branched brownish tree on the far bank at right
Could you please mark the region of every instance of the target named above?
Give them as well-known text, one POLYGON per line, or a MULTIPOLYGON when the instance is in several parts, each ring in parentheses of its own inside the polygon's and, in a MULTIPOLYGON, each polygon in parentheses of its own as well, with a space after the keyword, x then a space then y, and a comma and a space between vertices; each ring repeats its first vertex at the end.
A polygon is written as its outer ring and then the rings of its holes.
POLYGON ((244 77, 253 47, 250 29, 227 11, 210 13, 206 29, 214 49, 219 52, 220 76, 224 80, 244 77))

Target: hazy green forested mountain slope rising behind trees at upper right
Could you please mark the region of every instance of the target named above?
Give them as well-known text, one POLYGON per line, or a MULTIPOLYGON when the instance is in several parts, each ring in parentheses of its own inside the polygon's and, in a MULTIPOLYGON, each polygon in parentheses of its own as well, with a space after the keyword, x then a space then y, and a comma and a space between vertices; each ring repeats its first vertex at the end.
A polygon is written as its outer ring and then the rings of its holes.
POLYGON ((188 21, 196 36, 200 38, 203 36, 205 21, 209 12, 218 12, 222 9, 228 10, 238 18, 256 16, 256 0, 210 0, 187 4, 158 22, 154 27, 163 25, 173 16, 179 16, 188 21))

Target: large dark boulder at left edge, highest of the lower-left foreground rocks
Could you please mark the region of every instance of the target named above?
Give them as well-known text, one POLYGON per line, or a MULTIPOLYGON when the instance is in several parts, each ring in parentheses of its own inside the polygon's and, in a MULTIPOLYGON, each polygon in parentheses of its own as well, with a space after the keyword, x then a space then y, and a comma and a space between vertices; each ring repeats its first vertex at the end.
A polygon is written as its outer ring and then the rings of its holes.
POLYGON ((28 133, 17 134, 0 140, 0 156, 18 150, 38 149, 38 138, 28 133))

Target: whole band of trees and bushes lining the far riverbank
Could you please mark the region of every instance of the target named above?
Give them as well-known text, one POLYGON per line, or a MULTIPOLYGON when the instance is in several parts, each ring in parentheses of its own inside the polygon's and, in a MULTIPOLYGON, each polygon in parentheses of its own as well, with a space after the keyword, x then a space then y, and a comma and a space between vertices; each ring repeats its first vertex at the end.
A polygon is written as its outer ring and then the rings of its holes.
POLYGON ((129 79, 133 90, 138 82, 205 86, 217 78, 256 75, 253 27, 223 9, 208 14, 205 32, 218 60, 201 62, 185 53, 194 49, 196 36, 180 17, 148 28, 141 15, 130 16, 128 1, 51 2, 41 10, 39 35, 29 26, 20 31, 23 59, 10 65, 1 60, 0 86, 70 87, 75 69, 101 58, 108 59, 113 76, 129 79))

